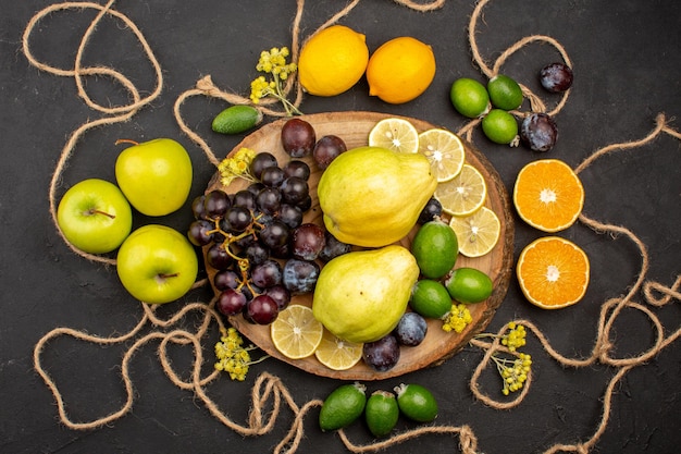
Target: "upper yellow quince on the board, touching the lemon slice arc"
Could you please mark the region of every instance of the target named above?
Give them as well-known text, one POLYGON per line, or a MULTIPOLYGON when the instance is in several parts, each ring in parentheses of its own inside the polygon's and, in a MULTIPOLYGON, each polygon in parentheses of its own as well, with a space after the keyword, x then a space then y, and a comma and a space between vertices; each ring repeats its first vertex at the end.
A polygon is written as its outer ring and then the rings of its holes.
POLYGON ((435 186, 423 155, 359 147, 331 162, 317 194, 326 230, 338 241, 382 247, 409 233, 435 186))

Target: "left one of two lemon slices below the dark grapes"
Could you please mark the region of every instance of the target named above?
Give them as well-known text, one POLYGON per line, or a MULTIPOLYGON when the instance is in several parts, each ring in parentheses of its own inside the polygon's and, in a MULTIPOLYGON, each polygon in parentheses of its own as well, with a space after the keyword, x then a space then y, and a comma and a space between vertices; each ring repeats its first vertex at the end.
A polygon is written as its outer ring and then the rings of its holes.
POLYGON ((306 358, 314 353, 324 327, 317 321, 312 309, 301 305, 290 305, 282 310, 270 326, 272 343, 287 358, 306 358))

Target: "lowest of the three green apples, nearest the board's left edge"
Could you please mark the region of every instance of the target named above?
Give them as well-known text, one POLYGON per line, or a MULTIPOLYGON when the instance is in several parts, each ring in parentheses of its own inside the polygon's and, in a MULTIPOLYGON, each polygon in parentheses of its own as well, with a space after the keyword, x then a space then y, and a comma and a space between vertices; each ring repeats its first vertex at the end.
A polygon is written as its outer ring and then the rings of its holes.
POLYGON ((186 294, 198 273, 194 246, 174 229, 140 226, 121 245, 116 270, 125 290, 137 299, 162 304, 186 294))

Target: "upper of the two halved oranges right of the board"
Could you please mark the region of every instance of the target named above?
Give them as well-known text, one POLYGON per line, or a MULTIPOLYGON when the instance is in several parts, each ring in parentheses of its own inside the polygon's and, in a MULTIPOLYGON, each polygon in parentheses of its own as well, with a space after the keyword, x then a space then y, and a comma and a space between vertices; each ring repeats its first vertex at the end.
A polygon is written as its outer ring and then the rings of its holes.
POLYGON ((584 187, 574 171, 558 159, 530 162, 513 187, 518 216, 543 232, 572 225, 584 207, 584 187))

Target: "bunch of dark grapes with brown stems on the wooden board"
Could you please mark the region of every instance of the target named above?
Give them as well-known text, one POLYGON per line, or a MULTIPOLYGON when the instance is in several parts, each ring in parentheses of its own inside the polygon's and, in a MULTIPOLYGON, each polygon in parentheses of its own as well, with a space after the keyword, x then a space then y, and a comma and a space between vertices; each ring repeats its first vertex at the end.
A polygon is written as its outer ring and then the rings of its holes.
POLYGON ((207 248, 220 312, 269 324, 292 296, 314 290, 318 258, 335 254, 324 229, 304 223, 312 205, 305 161, 280 165, 272 154, 260 152, 249 170, 257 181, 247 188, 213 189, 194 200, 187 236, 207 248))

